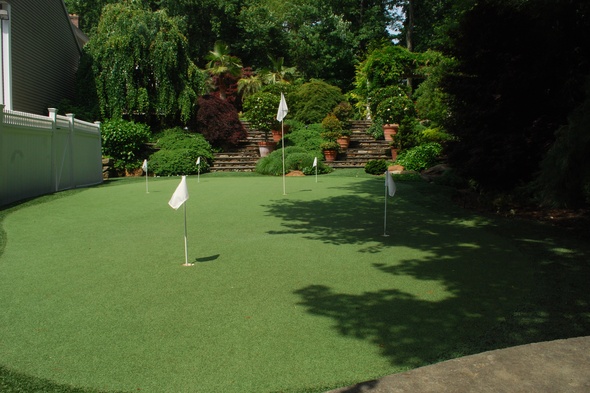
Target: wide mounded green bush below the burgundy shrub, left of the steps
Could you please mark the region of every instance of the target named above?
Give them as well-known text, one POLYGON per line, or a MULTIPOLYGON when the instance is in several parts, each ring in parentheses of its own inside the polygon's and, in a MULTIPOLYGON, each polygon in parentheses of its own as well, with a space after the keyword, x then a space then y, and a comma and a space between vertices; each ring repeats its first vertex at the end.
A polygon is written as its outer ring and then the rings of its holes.
POLYGON ((201 157, 201 173, 209 172, 211 168, 211 145, 201 134, 172 128, 160 135, 156 145, 160 150, 150 156, 149 169, 159 176, 196 174, 198 157, 201 157))

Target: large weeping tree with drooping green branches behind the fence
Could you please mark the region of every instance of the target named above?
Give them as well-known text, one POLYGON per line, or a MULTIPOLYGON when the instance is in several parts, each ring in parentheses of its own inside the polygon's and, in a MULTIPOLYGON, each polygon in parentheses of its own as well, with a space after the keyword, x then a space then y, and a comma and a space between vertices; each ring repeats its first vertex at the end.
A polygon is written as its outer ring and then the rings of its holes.
POLYGON ((194 117, 205 77, 190 60, 182 19, 137 3, 110 4, 85 50, 103 118, 163 125, 194 117))

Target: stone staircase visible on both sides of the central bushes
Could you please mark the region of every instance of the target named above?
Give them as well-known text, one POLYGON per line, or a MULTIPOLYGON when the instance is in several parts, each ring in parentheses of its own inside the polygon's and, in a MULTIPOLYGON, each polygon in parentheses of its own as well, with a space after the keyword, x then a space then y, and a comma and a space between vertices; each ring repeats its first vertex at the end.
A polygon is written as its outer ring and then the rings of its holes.
MULTIPOLYGON (((241 140, 231 150, 215 153, 215 161, 211 172, 253 172, 256 162, 260 159, 258 142, 264 140, 264 134, 250 128, 243 122, 248 137, 241 140)), ((332 168, 362 168, 370 160, 391 159, 388 142, 375 140, 366 134, 370 121, 355 120, 352 122, 350 145, 346 151, 338 153, 335 161, 327 163, 332 168)))

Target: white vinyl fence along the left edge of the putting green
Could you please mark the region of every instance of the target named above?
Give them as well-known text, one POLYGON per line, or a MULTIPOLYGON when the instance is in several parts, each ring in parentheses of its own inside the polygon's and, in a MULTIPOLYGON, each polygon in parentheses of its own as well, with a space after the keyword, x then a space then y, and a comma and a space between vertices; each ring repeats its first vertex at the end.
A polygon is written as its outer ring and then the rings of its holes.
POLYGON ((0 105, 0 206, 101 182, 100 123, 0 105))

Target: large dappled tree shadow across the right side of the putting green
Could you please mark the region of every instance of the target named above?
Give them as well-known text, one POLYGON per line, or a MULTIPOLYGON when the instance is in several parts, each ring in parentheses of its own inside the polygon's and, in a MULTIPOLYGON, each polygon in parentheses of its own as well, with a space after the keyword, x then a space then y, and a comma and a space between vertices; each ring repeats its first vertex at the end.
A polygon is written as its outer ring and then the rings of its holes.
POLYGON ((358 196, 278 201, 268 210, 283 219, 280 233, 381 253, 375 269, 426 289, 348 294, 310 285, 295 292, 310 314, 332 319, 343 336, 371 342, 400 369, 590 334, 585 243, 547 226, 469 215, 451 206, 444 190, 418 183, 398 185, 391 209, 397 225, 380 237, 383 206, 367 196, 383 192, 376 183, 359 182, 358 196), (426 256, 400 258, 397 246, 426 256), (444 294, 436 293, 441 284, 444 294))

